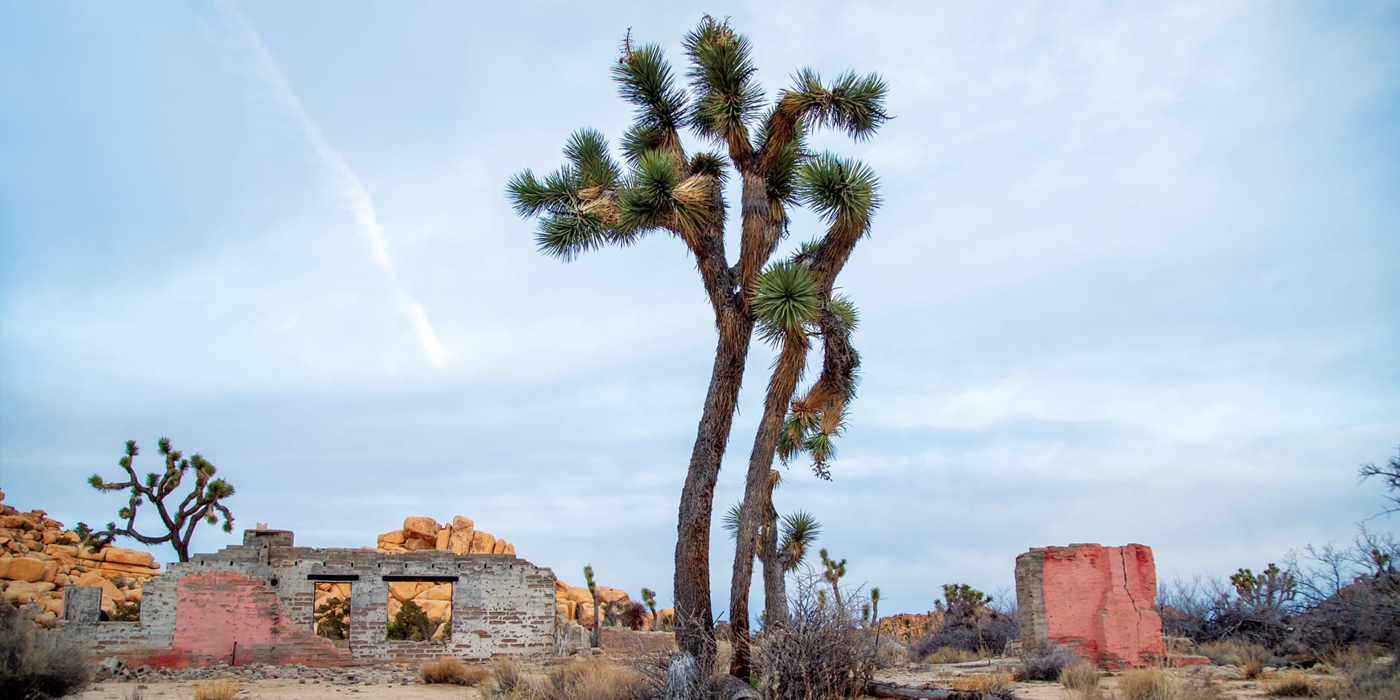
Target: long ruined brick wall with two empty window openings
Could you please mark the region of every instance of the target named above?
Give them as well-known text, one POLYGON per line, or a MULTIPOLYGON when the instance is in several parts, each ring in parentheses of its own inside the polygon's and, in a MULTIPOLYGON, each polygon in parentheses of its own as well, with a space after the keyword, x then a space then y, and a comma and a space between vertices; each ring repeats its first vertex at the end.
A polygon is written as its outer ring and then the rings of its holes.
POLYGON ((70 620, 99 657, 129 664, 216 662, 347 665, 440 655, 490 658, 554 652, 554 574, 512 554, 293 546, 284 531, 246 531, 244 545, 171 564, 147 584, 139 623, 70 620), (452 631, 442 641, 386 638, 388 584, 452 584, 452 631), (349 643, 312 629, 316 581, 350 581, 349 643), (237 648, 235 648, 237 644, 237 648))

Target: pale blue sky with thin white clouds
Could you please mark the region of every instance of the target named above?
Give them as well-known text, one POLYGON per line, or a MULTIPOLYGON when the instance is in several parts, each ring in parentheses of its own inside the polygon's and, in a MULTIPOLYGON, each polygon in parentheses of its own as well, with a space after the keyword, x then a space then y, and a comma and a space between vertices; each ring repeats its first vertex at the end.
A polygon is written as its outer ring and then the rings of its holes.
MULTIPOLYGON (((196 552, 465 515, 668 605, 714 351, 693 262, 546 258, 504 185, 578 127, 616 143, 624 34, 683 71, 704 13, 770 97, 889 83, 878 134, 813 139, 883 207, 839 280, 862 384, 832 480, 776 494, 882 612, 1072 542, 1224 577, 1383 508, 1357 468, 1400 449, 1400 4, 1215 0, 0 3, 4 503, 105 524, 125 497, 87 476, 169 437, 237 487, 196 552)), ((784 249, 820 232, 798 211, 784 249)), ((717 528, 717 615, 732 556, 717 528)))

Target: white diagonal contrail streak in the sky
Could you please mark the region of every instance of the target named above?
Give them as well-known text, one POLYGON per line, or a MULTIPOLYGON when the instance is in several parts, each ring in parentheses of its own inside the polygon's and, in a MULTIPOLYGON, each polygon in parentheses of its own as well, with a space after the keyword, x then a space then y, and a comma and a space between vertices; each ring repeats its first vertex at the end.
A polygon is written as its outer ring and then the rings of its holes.
POLYGON ((360 181, 360 176, 346 162, 344 155, 326 140, 321 125, 307 113, 307 108, 302 106, 301 99, 293 92, 287 77, 281 73, 281 67, 277 66, 277 60, 273 59, 272 52, 267 50, 258 29, 253 28, 248 18, 244 17, 244 13, 231 1, 225 0, 218 6, 228 15, 234 31, 252 50, 253 64, 259 77, 272 85, 273 92, 281 101, 283 106, 295 118, 297 125, 311 144, 311 150, 321 160, 326 174, 335 183, 336 192, 344 197, 350 213, 354 216, 356 228, 360 230, 360 234, 364 235, 365 242, 370 245, 370 256, 384 270, 385 277, 393 287, 399 312, 413 326, 413 333, 417 336, 423 353, 435 367, 442 367, 449 353, 442 346, 442 342, 438 340, 437 332, 433 330, 433 323, 428 322, 428 315, 423 311, 423 305, 405 291, 399 283, 399 276, 393 269, 393 260, 389 259, 389 246, 384 239, 384 228, 379 227, 379 216, 374 209, 374 199, 370 197, 370 190, 365 189, 364 182, 360 181))

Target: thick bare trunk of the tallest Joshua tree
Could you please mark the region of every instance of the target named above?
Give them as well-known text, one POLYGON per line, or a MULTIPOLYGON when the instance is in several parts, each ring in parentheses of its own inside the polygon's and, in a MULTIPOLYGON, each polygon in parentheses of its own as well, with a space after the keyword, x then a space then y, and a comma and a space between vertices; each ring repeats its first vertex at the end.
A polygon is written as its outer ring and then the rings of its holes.
POLYGON ((676 519, 676 645, 693 655, 700 668, 710 668, 715 655, 714 612, 710 609, 710 517, 714 508, 714 483, 729 440, 753 332, 753 321, 739 312, 736 305, 718 308, 715 316, 720 344, 676 519))

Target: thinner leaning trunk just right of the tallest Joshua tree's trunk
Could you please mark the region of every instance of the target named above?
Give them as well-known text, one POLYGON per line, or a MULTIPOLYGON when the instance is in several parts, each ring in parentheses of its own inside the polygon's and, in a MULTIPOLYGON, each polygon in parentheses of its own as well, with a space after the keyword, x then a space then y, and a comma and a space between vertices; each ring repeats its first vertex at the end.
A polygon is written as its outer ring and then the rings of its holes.
MULTIPOLYGON (((759 524, 767 521, 769 511, 773 510, 773 480, 769 472, 773 469, 773 454, 778 445, 778 434, 783 431, 783 419, 787 416, 788 402, 797 391, 797 382, 802 378, 802 368, 806 365, 806 337, 802 330, 787 333, 783 339, 783 351, 778 353, 777 365, 769 379, 769 393, 763 402, 763 417, 759 421, 757 434, 753 437, 753 451, 749 454, 749 473, 743 487, 743 508, 739 515, 739 533, 734 546, 734 577, 729 582, 729 630, 734 641, 734 657, 729 659, 729 673, 749 678, 749 584, 753 581, 753 557, 756 554, 759 524)), ((763 528, 766 547, 777 545, 777 517, 769 528, 763 528)), ((767 577, 764 577, 767 584, 767 577)), ((764 588, 764 603, 773 609, 773 601, 767 598, 764 588)), ((771 619, 769 620, 773 622, 771 619)))

